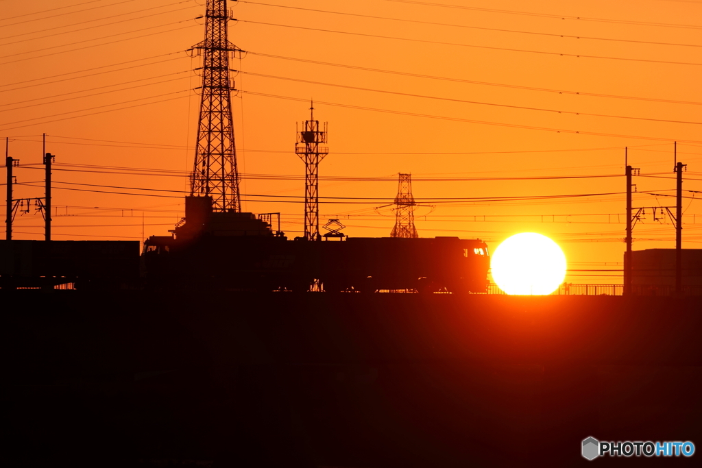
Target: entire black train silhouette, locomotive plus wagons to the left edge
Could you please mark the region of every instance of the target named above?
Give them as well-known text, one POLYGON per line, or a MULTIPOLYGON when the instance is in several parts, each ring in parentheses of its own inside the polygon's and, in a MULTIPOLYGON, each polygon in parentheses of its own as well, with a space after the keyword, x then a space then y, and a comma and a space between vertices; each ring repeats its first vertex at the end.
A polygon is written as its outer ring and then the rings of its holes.
POLYGON ((0 288, 485 293, 479 239, 289 240, 272 215, 213 212, 187 196, 171 236, 137 241, 0 241, 0 288))

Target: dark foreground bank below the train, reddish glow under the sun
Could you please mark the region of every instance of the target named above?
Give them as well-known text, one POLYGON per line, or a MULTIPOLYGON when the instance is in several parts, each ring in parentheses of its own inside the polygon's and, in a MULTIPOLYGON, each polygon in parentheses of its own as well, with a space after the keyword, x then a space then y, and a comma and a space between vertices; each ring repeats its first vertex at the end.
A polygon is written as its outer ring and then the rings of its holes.
POLYGON ((5 466, 571 466, 588 436, 702 447, 700 298, 0 300, 5 466))

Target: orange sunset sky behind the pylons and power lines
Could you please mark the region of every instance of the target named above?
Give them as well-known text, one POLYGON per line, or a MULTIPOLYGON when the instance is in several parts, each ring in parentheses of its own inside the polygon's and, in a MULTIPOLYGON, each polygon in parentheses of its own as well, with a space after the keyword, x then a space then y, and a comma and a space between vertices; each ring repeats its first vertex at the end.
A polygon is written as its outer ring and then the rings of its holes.
MULTIPOLYGON (((10 155, 20 159, 15 175, 27 184, 16 187, 15 198, 44 196, 41 133, 60 165, 124 168, 56 166, 54 239, 140 240, 167 234, 183 216, 180 191, 188 188, 199 108, 188 90, 200 86, 192 72, 199 60, 184 51, 204 34, 194 19, 204 15, 201 4, 0 0, 0 137, 10 137, 10 155), (157 171, 135 175, 133 168, 157 171)), ((378 197, 321 204, 322 224, 341 218, 350 236, 390 234, 392 211, 373 208, 395 196, 398 172, 411 173, 414 196, 434 206, 417 210, 420 236, 479 237, 494 248, 510 234, 540 232, 562 246, 571 268, 617 268, 625 235, 622 176, 494 179, 623 175, 628 146, 642 174, 664 173, 636 178, 638 191, 672 195, 677 140, 678 158, 688 164, 684 189, 702 190, 702 2, 264 0, 230 7, 240 20, 231 23, 230 41, 250 52, 230 64, 245 72, 234 77, 244 92, 232 100, 240 172, 298 176, 244 178, 244 209, 283 213, 291 237, 302 230, 302 203, 246 200, 303 196, 295 131, 310 98, 315 116, 329 121, 330 154, 320 176, 388 179, 320 183, 321 196, 378 197), (324 65, 330 63, 345 67, 324 65), (605 193, 614 194, 439 200, 605 193)), ((674 205, 672 197, 635 196, 635 206, 674 205)), ((685 199, 684 208, 683 247, 702 248, 702 203, 685 199)), ((42 227, 33 210, 18 215, 14 238, 43 239, 42 227)), ((670 221, 650 215, 634 237, 635 249, 675 246, 670 221)))

